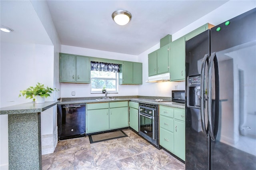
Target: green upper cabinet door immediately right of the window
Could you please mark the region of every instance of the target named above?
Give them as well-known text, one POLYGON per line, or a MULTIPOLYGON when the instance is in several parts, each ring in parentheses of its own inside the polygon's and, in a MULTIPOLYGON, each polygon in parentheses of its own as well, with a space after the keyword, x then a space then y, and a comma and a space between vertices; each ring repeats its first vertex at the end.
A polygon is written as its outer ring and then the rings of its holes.
POLYGON ((133 81, 133 63, 124 61, 123 64, 123 83, 132 84, 133 81))

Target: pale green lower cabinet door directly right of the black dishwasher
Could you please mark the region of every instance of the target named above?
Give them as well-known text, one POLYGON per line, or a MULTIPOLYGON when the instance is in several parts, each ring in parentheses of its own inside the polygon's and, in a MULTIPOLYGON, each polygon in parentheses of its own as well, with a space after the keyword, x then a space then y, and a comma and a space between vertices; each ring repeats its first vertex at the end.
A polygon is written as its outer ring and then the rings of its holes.
POLYGON ((99 132, 109 129, 108 109, 88 110, 86 115, 86 133, 99 132))

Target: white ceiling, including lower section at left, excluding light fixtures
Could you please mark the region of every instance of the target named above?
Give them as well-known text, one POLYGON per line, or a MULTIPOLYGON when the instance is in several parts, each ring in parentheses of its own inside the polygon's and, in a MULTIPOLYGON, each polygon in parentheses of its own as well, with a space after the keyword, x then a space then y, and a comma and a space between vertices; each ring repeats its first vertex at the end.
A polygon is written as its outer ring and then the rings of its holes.
MULTIPOLYGON (((139 55, 167 34, 198 20, 227 1, 224 0, 48 0, 47 4, 62 45, 139 55), (111 18, 124 9, 132 14, 126 26, 111 18)), ((1 41, 39 41, 49 44, 42 23, 30 1, 1 0, 1 25, 16 32, 1 41), (22 4, 23 3, 23 4, 22 4), (24 5, 24 3, 26 5, 24 5), (28 8, 28 9, 26 9, 28 8), (30 28, 29 31, 24 30, 30 28), (37 40, 42 38, 42 40, 37 40)), ((13 32, 13 33, 14 33, 13 32)))

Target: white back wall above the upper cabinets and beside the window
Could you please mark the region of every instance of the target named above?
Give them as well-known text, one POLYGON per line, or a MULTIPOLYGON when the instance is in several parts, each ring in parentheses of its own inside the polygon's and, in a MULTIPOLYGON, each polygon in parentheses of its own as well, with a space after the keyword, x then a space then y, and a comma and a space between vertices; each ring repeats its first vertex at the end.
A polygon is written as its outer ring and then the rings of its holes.
MULTIPOLYGON (((68 45, 61 45, 61 52, 76 54, 76 55, 85 55, 90 57, 138 62, 137 55, 114 53, 109 51, 73 47, 68 45)), ((138 86, 140 85, 118 85, 118 93, 110 94, 110 96, 138 95, 138 86)), ((90 84, 61 83, 61 97, 98 97, 98 96, 103 97, 104 94, 91 94, 90 84), (72 91, 76 92, 75 96, 71 95, 72 91)))

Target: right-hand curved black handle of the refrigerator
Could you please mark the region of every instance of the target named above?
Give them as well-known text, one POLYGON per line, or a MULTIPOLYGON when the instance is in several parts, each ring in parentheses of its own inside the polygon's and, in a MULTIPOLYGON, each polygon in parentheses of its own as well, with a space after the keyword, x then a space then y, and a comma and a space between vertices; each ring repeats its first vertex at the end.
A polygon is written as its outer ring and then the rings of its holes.
POLYGON ((216 53, 212 53, 209 59, 208 68, 208 119, 209 119, 209 134, 213 141, 216 140, 218 132, 218 117, 219 117, 219 72, 218 72, 218 60, 216 53), (212 66, 214 63, 214 75, 215 75, 215 108, 214 118, 212 118, 212 66), (214 120, 213 120, 214 119, 214 120), (217 120, 216 120, 217 119, 217 120))

